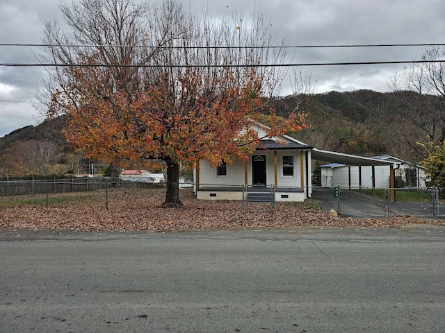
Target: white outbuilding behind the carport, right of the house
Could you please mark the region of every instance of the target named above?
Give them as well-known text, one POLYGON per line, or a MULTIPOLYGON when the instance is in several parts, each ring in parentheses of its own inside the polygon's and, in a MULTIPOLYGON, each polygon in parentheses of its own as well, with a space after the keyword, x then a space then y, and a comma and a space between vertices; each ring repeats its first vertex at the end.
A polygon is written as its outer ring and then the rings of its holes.
POLYGON ((387 162, 387 165, 341 163, 321 165, 319 167, 321 170, 321 186, 341 186, 352 189, 426 187, 427 176, 423 167, 389 155, 369 158, 375 161, 387 162), (391 185, 391 176, 394 179, 393 185, 391 185))

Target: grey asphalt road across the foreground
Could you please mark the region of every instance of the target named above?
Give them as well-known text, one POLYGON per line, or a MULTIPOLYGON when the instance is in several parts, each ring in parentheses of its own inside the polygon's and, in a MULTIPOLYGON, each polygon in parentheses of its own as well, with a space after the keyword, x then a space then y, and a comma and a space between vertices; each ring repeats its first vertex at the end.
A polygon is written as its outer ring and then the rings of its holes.
POLYGON ((0 332, 445 332, 445 228, 0 232, 0 332))

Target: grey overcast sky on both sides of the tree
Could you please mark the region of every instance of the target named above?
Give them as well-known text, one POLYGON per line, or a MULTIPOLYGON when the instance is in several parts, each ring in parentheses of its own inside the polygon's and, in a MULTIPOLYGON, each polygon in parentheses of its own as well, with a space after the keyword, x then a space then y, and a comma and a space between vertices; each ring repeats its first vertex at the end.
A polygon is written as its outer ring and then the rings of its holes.
MULTIPOLYGON (((66 2, 70 3, 71 0, 66 2)), ((155 0, 156 1, 156 0, 155 0)), ((159 1, 159 0, 158 0, 159 1)), ((0 44, 38 44, 42 19, 60 19, 59 0, 0 0, 0 44)), ((188 5, 189 1, 184 0, 188 5)), ((444 0, 192 0, 211 15, 229 10, 264 13, 289 45, 445 43, 444 0)), ((404 61, 426 46, 290 49, 298 63, 404 61)), ((36 62, 32 47, 0 46, 0 63, 36 62)), ((316 92, 387 91, 387 80, 404 65, 311 66, 316 92)), ((39 67, 0 67, 0 137, 42 121, 30 101, 40 85, 39 67)))

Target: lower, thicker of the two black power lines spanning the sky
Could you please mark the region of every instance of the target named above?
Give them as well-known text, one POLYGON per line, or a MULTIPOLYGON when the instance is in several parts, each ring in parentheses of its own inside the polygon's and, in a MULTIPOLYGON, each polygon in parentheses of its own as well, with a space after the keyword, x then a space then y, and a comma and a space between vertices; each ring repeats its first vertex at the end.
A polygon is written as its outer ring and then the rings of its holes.
POLYGON ((217 67, 307 67, 307 66, 350 66, 350 65, 394 65, 445 62, 445 60, 397 60, 397 61, 364 61, 364 62, 312 62, 295 64, 247 64, 247 65, 122 65, 122 64, 57 64, 57 63, 20 63, 0 62, 0 67, 147 67, 147 68, 217 68, 217 67))

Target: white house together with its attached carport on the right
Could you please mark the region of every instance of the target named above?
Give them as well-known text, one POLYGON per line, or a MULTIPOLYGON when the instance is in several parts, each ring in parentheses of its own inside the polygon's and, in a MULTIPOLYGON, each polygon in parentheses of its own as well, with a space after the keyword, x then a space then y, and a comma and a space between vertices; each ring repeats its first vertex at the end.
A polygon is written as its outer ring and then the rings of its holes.
POLYGON ((193 172, 198 199, 303 201, 312 194, 312 160, 338 164, 322 171, 325 186, 394 185, 394 170, 401 166, 399 161, 384 158, 323 151, 287 135, 266 137, 257 130, 264 139, 247 162, 235 160, 213 168, 207 160, 198 162, 193 172))

